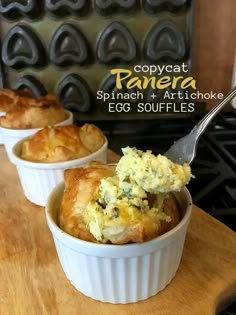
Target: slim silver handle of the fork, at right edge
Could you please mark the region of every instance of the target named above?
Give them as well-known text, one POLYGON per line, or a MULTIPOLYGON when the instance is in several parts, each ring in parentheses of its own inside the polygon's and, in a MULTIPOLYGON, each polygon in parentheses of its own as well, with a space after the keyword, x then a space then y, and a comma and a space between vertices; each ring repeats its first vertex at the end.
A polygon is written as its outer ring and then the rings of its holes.
POLYGON ((212 119, 221 111, 221 109, 228 104, 236 96, 236 86, 220 101, 215 107, 213 107, 193 128, 191 132, 196 133, 196 137, 199 138, 201 134, 206 130, 212 119))

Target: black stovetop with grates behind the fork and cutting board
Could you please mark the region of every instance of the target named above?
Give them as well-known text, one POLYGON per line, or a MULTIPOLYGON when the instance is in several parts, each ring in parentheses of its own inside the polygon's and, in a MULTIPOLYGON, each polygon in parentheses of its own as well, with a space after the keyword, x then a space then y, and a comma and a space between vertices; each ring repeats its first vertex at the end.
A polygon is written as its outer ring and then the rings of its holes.
MULTIPOLYGON (((135 146, 164 153, 173 141, 186 135, 201 115, 165 117, 146 121, 102 123, 109 147, 135 146)), ((236 112, 218 115, 201 137, 192 164, 195 175, 188 188, 194 204, 236 231, 236 112)))

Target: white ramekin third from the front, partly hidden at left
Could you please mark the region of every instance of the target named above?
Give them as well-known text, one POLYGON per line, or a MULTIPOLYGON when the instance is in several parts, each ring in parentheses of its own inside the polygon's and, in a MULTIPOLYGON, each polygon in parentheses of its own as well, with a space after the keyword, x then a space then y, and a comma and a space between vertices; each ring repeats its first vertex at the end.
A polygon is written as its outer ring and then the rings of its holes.
MULTIPOLYGON (((67 125, 73 124, 73 113, 68 110, 66 110, 66 113, 67 113, 67 118, 55 124, 55 126, 67 126, 67 125)), ((13 158, 12 158, 12 148, 14 144, 16 144, 18 141, 20 141, 23 138, 32 136, 40 129, 41 128, 8 129, 8 128, 1 127, 3 144, 5 146, 8 158, 12 163, 14 163, 13 158)))

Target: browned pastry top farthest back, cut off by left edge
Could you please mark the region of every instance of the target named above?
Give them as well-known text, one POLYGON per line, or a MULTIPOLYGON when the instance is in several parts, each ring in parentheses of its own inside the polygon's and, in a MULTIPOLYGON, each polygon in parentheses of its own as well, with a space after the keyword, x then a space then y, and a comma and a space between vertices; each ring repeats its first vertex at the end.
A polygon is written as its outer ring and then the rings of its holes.
POLYGON ((21 97, 32 98, 32 94, 30 91, 24 90, 0 90, 0 112, 12 109, 21 97))

